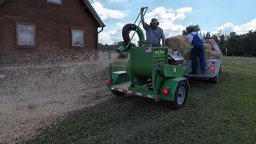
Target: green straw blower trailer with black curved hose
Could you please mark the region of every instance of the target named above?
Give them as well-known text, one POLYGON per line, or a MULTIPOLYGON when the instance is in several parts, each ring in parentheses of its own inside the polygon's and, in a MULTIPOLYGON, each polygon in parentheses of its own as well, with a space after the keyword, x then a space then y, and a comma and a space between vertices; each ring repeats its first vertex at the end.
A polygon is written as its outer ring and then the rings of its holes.
MULTIPOLYGON (((147 11, 148 7, 143 7, 143 9, 147 11)), ((137 19, 139 16, 140 13, 137 19)), ((123 27, 124 43, 117 49, 119 54, 130 51, 126 69, 112 71, 110 61, 110 75, 106 80, 107 87, 117 96, 129 93, 155 101, 170 101, 170 106, 173 109, 182 108, 190 90, 187 78, 183 77, 184 69, 181 66, 183 58, 175 54, 170 55, 167 46, 153 46, 153 44, 147 43, 142 29, 134 23, 127 23, 123 27), (139 46, 129 46, 134 36, 133 34, 130 39, 130 31, 138 34, 139 46), (177 60, 171 59, 172 57, 177 60)), ((186 49, 192 48, 193 46, 186 47, 186 49)))

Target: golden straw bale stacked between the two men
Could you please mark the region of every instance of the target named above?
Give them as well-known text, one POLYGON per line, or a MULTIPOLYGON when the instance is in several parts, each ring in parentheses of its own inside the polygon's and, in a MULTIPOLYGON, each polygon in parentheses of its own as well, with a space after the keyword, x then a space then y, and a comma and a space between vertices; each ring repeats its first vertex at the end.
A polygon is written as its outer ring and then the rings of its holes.
POLYGON ((190 42, 187 36, 173 36, 165 39, 165 45, 172 49, 173 51, 178 51, 183 47, 190 46, 190 42))

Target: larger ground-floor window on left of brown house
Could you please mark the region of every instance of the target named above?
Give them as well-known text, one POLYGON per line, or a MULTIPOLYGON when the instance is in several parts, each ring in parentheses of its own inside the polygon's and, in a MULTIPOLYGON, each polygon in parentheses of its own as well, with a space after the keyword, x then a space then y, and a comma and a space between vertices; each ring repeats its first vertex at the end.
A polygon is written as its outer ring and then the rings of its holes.
POLYGON ((17 25, 18 46, 35 46, 35 26, 17 25))

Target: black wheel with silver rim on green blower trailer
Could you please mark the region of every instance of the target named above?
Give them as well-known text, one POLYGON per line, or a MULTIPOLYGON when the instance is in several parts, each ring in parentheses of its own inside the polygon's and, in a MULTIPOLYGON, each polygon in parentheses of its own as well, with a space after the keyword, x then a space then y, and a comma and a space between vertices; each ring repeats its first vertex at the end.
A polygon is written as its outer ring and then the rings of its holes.
POLYGON ((172 108, 173 109, 180 109, 182 108, 188 96, 188 85, 185 82, 179 82, 177 88, 174 93, 174 101, 172 101, 172 108))

